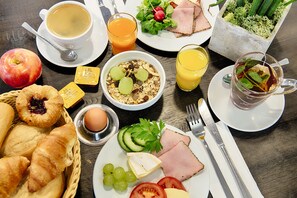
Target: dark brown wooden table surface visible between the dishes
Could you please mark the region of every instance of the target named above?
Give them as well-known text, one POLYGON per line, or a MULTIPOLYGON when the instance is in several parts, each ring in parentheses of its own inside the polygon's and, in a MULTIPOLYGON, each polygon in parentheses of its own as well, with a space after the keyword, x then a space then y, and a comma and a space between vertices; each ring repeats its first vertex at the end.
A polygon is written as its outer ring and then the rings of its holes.
MULTIPOLYGON (((61 89, 73 81, 75 68, 63 68, 48 62, 39 53, 35 38, 21 27, 27 21, 35 29, 41 24, 38 13, 43 8, 49 8, 58 0, 1 0, 0 6, 0 55, 12 48, 26 48, 36 52, 42 59, 43 73, 38 84, 52 85, 61 89)), ((276 35, 268 53, 277 60, 287 57, 290 64, 284 67, 287 78, 297 78, 297 4, 294 4, 276 35)), ((202 46, 207 48, 208 42, 202 46)), ((175 82, 176 53, 166 53, 152 49, 137 41, 137 50, 146 51, 156 57, 166 71, 166 87, 163 97, 152 107, 128 112, 116 108, 102 95, 100 86, 82 87, 86 95, 81 103, 69 109, 74 119, 77 112, 86 105, 102 103, 110 106, 117 113, 120 127, 138 122, 139 117, 151 120, 162 119, 167 124, 182 130, 189 130, 186 123, 185 106, 195 103, 198 98, 207 99, 207 89, 210 80, 220 69, 233 64, 223 56, 209 51, 209 68, 200 86, 190 93, 179 90, 175 82)), ((88 64, 102 68, 112 56, 108 45, 104 53, 94 62, 88 64)), ((13 90, 0 80, 0 94, 13 90)), ((261 192, 268 198, 297 197, 297 92, 285 96, 285 109, 282 117, 272 127, 259 132, 247 133, 231 129, 234 139, 246 160, 248 167, 261 192)), ((82 172, 76 197, 94 197, 92 187, 93 166, 102 146, 91 147, 81 144, 82 172)), ((112 155, 112 151, 110 152, 112 155)))

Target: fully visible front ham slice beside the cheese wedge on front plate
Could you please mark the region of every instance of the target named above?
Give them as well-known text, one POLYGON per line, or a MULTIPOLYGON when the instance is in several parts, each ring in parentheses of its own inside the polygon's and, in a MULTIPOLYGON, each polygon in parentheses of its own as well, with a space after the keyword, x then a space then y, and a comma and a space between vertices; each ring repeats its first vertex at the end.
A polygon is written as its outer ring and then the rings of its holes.
POLYGON ((159 157, 165 176, 187 180, 204 169, 204 165, 182 141, 159 157))

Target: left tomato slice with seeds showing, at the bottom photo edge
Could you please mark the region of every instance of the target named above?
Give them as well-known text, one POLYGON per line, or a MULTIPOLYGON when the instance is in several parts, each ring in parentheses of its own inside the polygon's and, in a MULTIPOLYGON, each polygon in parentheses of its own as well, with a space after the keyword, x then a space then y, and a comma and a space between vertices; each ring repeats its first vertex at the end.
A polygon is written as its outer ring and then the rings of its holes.
POLYGON ((164 189, 156 183, 143 182, 135 186, 130 198, 166 198, 164 189))

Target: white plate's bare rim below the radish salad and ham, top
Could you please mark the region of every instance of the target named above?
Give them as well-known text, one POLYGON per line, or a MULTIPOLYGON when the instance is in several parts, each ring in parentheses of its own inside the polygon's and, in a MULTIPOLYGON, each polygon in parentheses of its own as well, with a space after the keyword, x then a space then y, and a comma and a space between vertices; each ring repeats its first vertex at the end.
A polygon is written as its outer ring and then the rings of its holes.
MULTIPOLYGON (((126 2, 126 11, 136 17, 138 11, 137 6, 141 4, 143 0, 127 0, 126 2)), ((211 24, 211 28, 208 30, 204 30, 201 32, 197 32, 192 34, 191 36, 183 36, 180 38, 176 38, 172 32, 163 30, 160 31, 158 35, 151 35, 148 33, 143 33, 141 31, 141 26, 139 20, 138 22, 138 36, 137 38, 145 43, 146 45, 153 47, 155 49, 159 49, 162 51, 168 52, 177 52, 184 45, 187 44, 202 44, 207 39, 210 38, 213 30, 213 26, 215 23, 215 19, 217 14, 219 13, 219 6, 211 7, 208 11, 208 7, 211 3, 215 3, 216 0, 202 0, 202 10, 205 17, 208 19, 211 24)))

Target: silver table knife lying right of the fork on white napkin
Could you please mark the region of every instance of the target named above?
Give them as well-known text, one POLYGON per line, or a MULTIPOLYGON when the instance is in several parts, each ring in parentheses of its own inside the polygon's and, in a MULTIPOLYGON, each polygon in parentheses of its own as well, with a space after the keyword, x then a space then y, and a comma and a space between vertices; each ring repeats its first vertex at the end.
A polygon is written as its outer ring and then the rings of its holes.
POLYGON ((240 175, 238 174, 238 171, 237 169, 234 167, 232 161, 231 161, 231 158, 226 150, 226 147, 225 147, 225 144, 222 140, 222 137, 219 133, 219 130, 217 128, 217 125, 215 124, 211 114, 210 114, 210 111, 207 107, 207 104, 205 102, 205 100, 203 98, 200 98, 198 100, 198 110, 199 110, 199 113, 200 113, 200 116, 202 117, 206 127, 208 128, 210 134, 213 136, 213 138, 215 139, 218 147, 220 148, 221 152, 223 153, 223 155, 225 156, 225 159, 226 161, 228 162, 229 166, 230 166, 230 169, 232 171, 232 174, 235 178, 235 180, 237 181, 237 185, 238 185, 238 188, 241 192, 241 195, 243 197, 252 197, 250 192, 247 190, 247 187, 245 186, 245 184, 243 183, 240 175))

